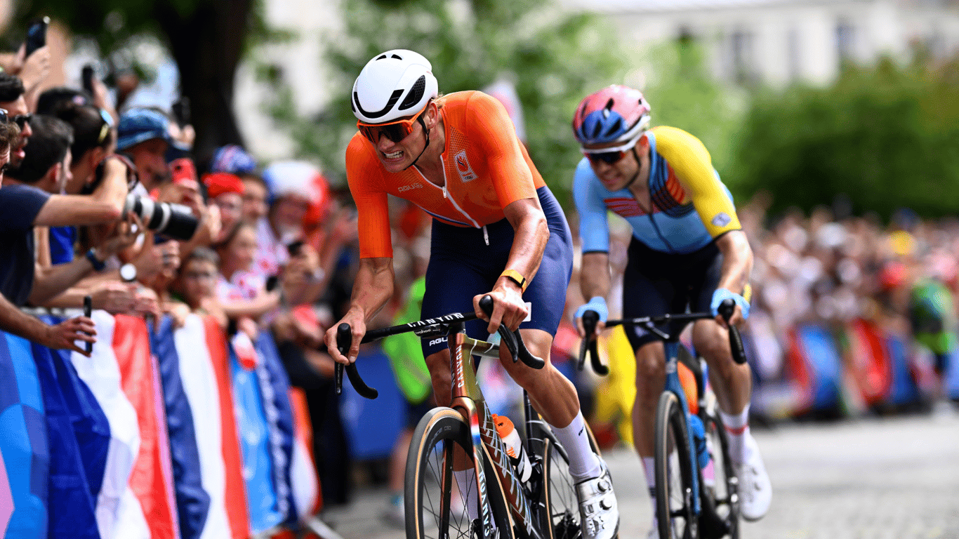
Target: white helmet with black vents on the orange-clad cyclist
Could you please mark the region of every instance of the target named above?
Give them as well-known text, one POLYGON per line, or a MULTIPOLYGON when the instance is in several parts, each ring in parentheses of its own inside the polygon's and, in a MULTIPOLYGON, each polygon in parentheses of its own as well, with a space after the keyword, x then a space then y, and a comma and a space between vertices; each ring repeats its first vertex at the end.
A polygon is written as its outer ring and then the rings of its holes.
POLYGON ((361 122, 386 124, 419 112, 437 92, 430 60, 393 49, 366 62, 353 82, 350 105, 361 122))

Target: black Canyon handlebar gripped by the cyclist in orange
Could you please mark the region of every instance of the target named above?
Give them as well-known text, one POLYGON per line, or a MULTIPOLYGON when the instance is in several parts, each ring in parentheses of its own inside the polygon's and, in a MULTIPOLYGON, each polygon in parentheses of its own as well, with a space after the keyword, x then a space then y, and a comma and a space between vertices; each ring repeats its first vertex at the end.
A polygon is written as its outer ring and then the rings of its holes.
MULTIPOLYGON (((486 313, 486 316, 492 316, 493 298, 489 295, 484 295, 479 299, 479 308, 486 313)), ((391 335, 408 333, 410 331, 419 335, 419 330, 429 329, 439 324, 446 324, 449 322, 465 322, 469 320, 475 320, 477 317, 478 316, 476 316, 476 313, 453 313, 451 315, 437 316, 435 318, 410 322, 409 324, 374 329, 366 332, 366 335, 363 336, 363 340, 361 340, 361 342, 380 340, 391 335)), ((543 368, 546 365, 545 361, 532 355, 529 350, 526 349, 526 344, 523 343, 523 338, 520 337, 519 331, 511 332, 502 324, 500 325, 500 329, 498 331, 503 342, 506 344, 506 348, 513 356, 514 362, 516 362, 518 358, 523 360, 523 363, 526 363, 533 368, 543 368)), ((339 353, 343 356, 346 356, 350 351, 350 345, 352 343, 353 328, 351 328, 350 325, 345 322, 339 324, 337 327, 337 348, 339 349, 339 353)), ((363 382, 363 378, 360 376, 360 371, 357 370, 356 363, 350 363, 349 365, 346 365, 346 374, 350 379, 350 383, 353 384, 353 387, 361 396, 366 397, 367 399, 375 399, 377 395, 379 395, 379 391, 372 387, 366 386, 366 383, 363 382)), ((343 363, 337 362, 334 366, 334 385, 334 387, 336 387, 337 394, 339 395, 343 389, 343 363)))

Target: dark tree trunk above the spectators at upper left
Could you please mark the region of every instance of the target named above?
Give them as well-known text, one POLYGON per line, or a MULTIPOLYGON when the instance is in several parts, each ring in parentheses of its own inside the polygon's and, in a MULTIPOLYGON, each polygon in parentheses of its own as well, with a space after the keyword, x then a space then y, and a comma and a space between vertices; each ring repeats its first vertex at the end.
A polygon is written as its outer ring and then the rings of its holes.
POLYGON ((199 2, 186 18, 164 4, 157 5, 156 21, 179 68, 180 92, 190 100, 194 155, 202 167, 218 147, 244 143, 233 115, 233 86, 253 0, 199 2))

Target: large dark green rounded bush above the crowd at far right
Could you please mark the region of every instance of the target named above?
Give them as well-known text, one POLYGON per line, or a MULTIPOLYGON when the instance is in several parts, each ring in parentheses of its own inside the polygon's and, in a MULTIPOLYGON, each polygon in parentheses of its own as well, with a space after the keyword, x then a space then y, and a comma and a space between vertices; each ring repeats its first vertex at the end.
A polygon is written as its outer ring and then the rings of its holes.
POLYGON ((924 216, 959 209, 959 62, 882 59, 829 88, 760 95, 737 149, 741 192, 768 189, 773 211, 844 194, 856 212, 924 216))

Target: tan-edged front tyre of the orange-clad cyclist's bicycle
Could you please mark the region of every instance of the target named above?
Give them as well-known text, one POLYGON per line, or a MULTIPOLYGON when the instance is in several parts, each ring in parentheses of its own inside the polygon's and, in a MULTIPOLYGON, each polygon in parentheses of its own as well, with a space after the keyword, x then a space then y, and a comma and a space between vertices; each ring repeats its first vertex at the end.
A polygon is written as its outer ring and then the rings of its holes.
MULTIPOLYGON (((451 408, 434 408, 420 419, 409 443, 404 485, 407 539, 431 539, 439 536, 438 528, 433 528, 436 533, 431 535, 428 533, 427 527, 424 526, 423 503, 427 498, 424 496, 424 490, 427 483, 431 481, 427 460, 432 453, 433 446, 444 440, 456 443, 466 452, 467 456, 472 457, 473 446, 470 429, 462 415, 451 408)), ((488 459, 486 454, 480 451, 480 456, 484 460, 482 464, 486 471, 487 495, 490 499, 494 521, 500 531, 500 537, 512 537, 508 510, 503 500, 499 482, 489 474, 490 466, 488 462, 485 462, 488 459), (499 496, 498 493, 500 493, 499 496)), ((451 537, 455 536, 451 535, 451 537)), ((465 536, 470 537, 470 534, 467 532, 465 536)))

